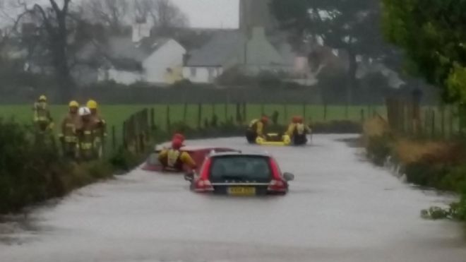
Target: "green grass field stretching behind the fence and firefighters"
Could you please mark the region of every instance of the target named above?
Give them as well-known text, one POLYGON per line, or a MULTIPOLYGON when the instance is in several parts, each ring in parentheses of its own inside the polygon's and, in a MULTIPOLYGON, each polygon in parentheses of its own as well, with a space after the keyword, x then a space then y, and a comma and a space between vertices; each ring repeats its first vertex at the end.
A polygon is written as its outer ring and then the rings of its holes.
MULTIPOLYGON (((236 105, 216 104, 216 105, 201 105, 201 110, 198 105, 101 105, 100 114, 107 121, 109 135, 111 135, 112 126, 115 128, 117 144, 121 143, 121 133, 123 122, 144 108, 153 108, 155 110, 154 121, 161 129, 167 128, 167 117, 169 115, 170 123, 185 122, 189 126, 198 126, 199 113, 201 113, 201 126, 205 119, 212 119, 213 114, 217 115, 219 123, 225 122, 226 119, 232 118, 236 120, 236 105), (200 112, 201 111, 201 112, 200 112)), ((352 106, 328 106, 323 105, 246 105, 246 121, 260 117, 261 114, 271 116, 274 111, 279 113, 278 122, 280 124, 289 123, 289 119, 294 115, 304 116, 306 121, 333 121, 349 119, 361 121, 362 117, 374 114, 374 112, 383 113, 384 107, 359 107, 352 106)), ((52 117, 56 124, 56 133, 58 126, 66 115, 66 105, 52 105, 52 117)), ((241 109, 242 114, 242 109, 241 109)), ((16 121, 24 124, 29 124, 32 121, 32 105, 0 105, 0 117, 4 119, 13 118, 16 121)), ((109 145, 109 143, 107 144, 109 145)), ((112 149, 112 148, 107 148, 112 149)))

